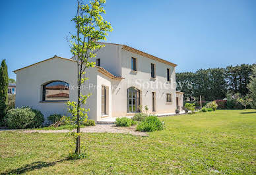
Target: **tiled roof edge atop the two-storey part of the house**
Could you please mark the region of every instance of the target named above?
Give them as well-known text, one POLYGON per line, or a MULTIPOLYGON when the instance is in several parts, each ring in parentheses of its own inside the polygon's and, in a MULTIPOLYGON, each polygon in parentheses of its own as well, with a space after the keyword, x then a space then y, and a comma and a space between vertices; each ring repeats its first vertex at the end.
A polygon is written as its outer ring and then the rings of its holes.
POLYGON ((164 63, 164 64, 168 64, 170 66, 174 66, 176 67, 177 64, 174 64, 174 63, 171 63, 170 61, 166 61, 164 59, 160 59, 158 57, 155 57, 154 55, 150 55, 148 53, 145 53, 143 51, 140 51, 138 49, 135 49, 133 47, 129 47, 128 45, 123 45, 123 44, 117 44, 117 43, 104 43, 104 42, 98 42, 98 43, 103 43, 103 44, 113 44, 113 45, 121 45, 122 46, 122 49, 126 50, 126 51, 130 51, 132 53, 137 53, 138 55, 141 55, 143 57, 147 57, 149 59, 152 59, 154 61, 159 61, 160 63, 164 63))

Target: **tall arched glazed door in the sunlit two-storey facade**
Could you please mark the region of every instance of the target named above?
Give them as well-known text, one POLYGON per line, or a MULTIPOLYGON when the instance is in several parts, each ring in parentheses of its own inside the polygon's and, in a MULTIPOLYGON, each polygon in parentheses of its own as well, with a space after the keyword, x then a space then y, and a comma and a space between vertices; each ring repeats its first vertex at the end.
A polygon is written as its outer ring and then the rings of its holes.
POLYGON ((141 93, 139 89, 127 89, 127 112, 140 112, 139 105, 141 105, 141 93))

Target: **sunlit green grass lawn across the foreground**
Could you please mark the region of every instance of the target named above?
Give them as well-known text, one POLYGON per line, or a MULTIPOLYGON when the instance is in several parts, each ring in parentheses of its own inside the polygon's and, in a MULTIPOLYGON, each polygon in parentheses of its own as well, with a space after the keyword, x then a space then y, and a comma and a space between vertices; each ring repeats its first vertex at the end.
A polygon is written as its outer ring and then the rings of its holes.
POLYGON ((160 118, 149 137, 82 134, 88 157, 67 161, 65 134, 0 132, 0 173, 255 174, 256 111, 160 118))

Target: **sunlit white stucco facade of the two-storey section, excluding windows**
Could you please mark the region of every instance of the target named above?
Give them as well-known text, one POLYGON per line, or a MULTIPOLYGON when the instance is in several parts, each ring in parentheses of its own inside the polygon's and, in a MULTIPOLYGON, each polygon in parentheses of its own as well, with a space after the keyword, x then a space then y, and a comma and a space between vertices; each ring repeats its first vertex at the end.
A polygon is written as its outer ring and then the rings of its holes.
MULTIPOLYGON (((121 51, 122 70, 121 82, 115 82, 119 88, 113 90, 112 115, 126 116, 127 113, 127 89, 135 87, 141 90, 141 105, 148 106, 148 112, 154 114, 175 112, 176 109, 176 77, 173 66, 148 59, 136 53, 121 51), (131 70, 131 57, 137 59, 137 72, 131 70), (151 78, 151 66, 155 64, 156 78, 151 78), (170 82, 167 82, 166 69, 170 68, 170 82), (162 88, 160 85, 163 85, 162 88), (144 85, 144 87, 143 87, 144 85), (158 85, 158 87, 157 87, 158 85), (165 87, 164 87, 165 86, 165 87), (152 112, 152 92, 156 93, 156 112, 152 112), (166 102, 166 93, 172 94, 172 102, 166 102)), ((114 83, 113 83, 114 84, 114 83)))

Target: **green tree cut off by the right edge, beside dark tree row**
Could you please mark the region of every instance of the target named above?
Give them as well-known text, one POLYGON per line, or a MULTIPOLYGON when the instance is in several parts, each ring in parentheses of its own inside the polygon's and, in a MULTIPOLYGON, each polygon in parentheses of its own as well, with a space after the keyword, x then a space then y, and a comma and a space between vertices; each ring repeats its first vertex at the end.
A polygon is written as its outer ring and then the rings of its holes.
POLYGON ((256 109, 256 64, 253 65, 253 74, 250 76, 251 81, 247 88, 249 89, 249 98, 251 98, 250 105, 253 109, 256 109))

